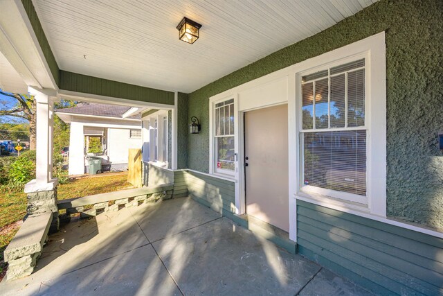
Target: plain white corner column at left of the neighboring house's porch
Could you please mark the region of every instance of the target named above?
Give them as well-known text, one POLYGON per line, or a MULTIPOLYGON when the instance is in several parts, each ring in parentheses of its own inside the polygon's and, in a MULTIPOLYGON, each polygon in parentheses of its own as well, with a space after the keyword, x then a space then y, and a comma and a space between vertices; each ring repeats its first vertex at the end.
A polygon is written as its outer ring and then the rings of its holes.
POLYGON ((69 175, 84 174, 84 131, 83 123, 71 122, 69 135, 69 175))

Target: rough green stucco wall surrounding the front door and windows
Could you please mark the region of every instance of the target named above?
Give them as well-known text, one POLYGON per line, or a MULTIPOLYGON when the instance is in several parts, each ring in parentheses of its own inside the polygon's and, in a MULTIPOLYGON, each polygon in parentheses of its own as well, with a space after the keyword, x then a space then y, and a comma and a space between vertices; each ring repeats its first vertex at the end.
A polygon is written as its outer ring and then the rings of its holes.
POLYGON ((388 216, 443 229, 443 1, 382 0, 312 37, 190 94, 188 166, 208 172, 208 98, 260 76, 386 32, 388 216))

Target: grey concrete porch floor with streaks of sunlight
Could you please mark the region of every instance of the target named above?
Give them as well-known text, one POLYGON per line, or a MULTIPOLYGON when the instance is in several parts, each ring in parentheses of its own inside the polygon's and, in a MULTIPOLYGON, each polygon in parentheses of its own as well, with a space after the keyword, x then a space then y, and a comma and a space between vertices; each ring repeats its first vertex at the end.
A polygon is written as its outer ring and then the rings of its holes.
POLYGON ((1 295, 370 295, 190 198, 72 220, 1 295))

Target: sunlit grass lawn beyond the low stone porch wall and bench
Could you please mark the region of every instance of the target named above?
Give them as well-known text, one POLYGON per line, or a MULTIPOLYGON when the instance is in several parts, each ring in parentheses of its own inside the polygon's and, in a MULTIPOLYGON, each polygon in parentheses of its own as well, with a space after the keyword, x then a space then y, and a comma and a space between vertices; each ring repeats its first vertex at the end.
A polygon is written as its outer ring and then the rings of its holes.
MULTIPOLYGON (((59 200, 67 198, 78 198, 86 195, 106 193, 123 189, 133 188, 126 182, 127 173, 112 175, 98 175, 72 180, 67 184, 58 186, 59 200)), ((1 229, 6 225, 21 220, 26 214, 26 194, 22 192, 0 193, 0 280, 4 274, 6 264, 3 262, 3 251, 8 246, 10 240, 15 236, 19 227, 1 229)), ((9 228, 9 227, 8 227, 9 228)))

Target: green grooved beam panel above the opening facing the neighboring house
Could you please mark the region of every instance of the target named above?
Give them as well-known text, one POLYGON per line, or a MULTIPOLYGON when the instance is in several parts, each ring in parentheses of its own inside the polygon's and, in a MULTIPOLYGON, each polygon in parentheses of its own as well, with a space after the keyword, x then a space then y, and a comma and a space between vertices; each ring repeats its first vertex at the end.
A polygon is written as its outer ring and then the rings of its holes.
POLYGON ((174 105, 174 93, 60 70, 60 89, 147 103, 174 105))

